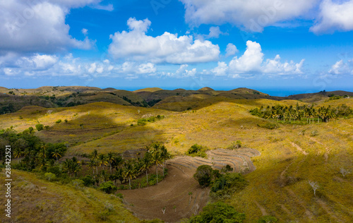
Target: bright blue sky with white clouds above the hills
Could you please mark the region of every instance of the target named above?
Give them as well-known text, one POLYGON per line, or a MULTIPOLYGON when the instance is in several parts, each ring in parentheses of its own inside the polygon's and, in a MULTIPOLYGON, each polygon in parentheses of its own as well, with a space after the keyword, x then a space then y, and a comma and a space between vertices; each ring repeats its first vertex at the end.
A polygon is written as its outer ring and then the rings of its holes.
POLYGON ((0 0, 0 86, 353 91, 353 0, 0 0))

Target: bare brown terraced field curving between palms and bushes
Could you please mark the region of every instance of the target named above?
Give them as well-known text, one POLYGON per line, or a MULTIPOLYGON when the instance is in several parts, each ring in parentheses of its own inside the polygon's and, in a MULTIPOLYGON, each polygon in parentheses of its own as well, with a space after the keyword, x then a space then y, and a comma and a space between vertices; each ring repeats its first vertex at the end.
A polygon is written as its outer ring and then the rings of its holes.
POLYGON ((140 219, 159 218, 165 222, 179 222, 197 214, 208 203, 210 189, 201 188, 193 179, 199 166, 207 164, 213 169, 222 169, 229 164, 233 171, 246 174, 256 169, 251 157, 258 155, 260 152, 257 150, 244 148, 210 150, 208 159, 179 156, 167 161, 169 175, 157 186, 118 193, 124 195, 128 210, 140 219))

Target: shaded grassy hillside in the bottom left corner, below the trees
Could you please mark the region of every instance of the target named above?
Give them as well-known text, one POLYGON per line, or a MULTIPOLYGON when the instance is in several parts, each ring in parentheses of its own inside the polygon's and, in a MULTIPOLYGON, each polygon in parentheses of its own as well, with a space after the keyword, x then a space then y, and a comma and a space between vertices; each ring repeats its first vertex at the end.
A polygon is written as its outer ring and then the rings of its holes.
MULTIPOLYGON (((11 220, 1 215, 1 222, 140 222, 115 195, 52 183, 24 171, 13 170, 11 177, 11 220)), ((5 194, 4 186, 0 193, 5 194)))

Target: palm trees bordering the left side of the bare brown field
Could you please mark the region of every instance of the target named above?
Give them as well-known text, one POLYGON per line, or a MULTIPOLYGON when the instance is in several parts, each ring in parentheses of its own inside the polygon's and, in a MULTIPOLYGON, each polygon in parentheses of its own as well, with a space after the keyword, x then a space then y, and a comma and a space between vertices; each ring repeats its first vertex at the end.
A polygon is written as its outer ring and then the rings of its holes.
MULTIPOLYGON (((128 187, 131 189, 131 180, 135 179, 140 174, 146 174, 146 180, 148 184, 148 170, 155 165, 155 171, 157 174, 158 183, 158 167, 162 167, 163 175, 165 162, 171 155, 167 151, 167 148, 160 143, 153 143, 146 147, 146 152, 143 158, 138 159, 123 159, 120 155, 116 155, 113 152, 107 153, 107 155, 99 154, 97 150, 93 150, 90 154, 90 161, 88 167, 92 169, 94 177, 101 177, 102 181, 119 180, 120 183, 128 181, 128 187), (101 171, 98 174, 98 167, 101 171), (104 167, 109 167, 109 173, 105 171, 104 167)), ((99 180, 98 180, 99 181, 99 180)))

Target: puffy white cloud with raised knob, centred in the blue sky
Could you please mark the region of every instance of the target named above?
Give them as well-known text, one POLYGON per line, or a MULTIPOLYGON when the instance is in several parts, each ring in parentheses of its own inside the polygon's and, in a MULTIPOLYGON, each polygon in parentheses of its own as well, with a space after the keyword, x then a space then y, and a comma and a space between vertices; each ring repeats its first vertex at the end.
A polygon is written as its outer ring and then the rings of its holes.
POLYGON ((180 36, 169 32, 152 37, 146 35, 151 22, 128 19, 129 31, 110 35, 112 44, 109 53, 115 59, 133 59, 149 61, 154 64, 191 64, 215 61, 220 54, 220 47, 208 40, 193 40, 192 36, 180 36))

